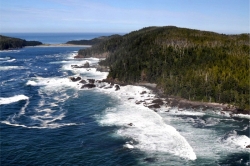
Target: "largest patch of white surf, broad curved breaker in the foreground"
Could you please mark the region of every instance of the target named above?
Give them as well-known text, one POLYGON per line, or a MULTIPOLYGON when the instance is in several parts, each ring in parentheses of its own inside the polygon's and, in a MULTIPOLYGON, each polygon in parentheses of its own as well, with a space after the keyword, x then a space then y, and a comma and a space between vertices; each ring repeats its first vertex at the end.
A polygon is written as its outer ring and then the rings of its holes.
POLYGON ((137 142, 127 147, 145 152, 171 153, 195 160, 196 154, 186 139, 172 126, 165 124, 154 111, 135 104, 124 103, 105 111, 101 125, 119 126, 117 134, 137 142))

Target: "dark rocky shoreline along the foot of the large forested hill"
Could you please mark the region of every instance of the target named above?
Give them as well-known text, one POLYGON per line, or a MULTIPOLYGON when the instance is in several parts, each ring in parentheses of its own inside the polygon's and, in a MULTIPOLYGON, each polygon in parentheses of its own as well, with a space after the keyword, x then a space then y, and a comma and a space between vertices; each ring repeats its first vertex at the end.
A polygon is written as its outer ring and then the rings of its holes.
MULTIPOLYGON (((109 68, 105 66, 90 66, 88 62, 86 62, 83 65, 71 65, 72 68, 96 68, 97 71, 100 72, 109 72, 109 68)), ((180 97, 176 96, 167 96, 165 95, 160 88, 157 87, 157 84, 155 83, 148 83, 148 82, 139 82, 139 83, 134 83, 134 84, 128 84, 125 82, 120 82, 118 80, 114 79, 103 79, 103 80, 82 80, 81 77, 70 77, 71 81, 79 81, 79 83, 83 84, 81 89, 85 88, 94 88, 94 87, 99 87, 99 88, 113 88, 115 87, 115 90, 119 90, 120 86, 126 86, 126 85, 134 85, 134 86, 142 86, 145 87, 149 90, 151 90, 155 95, 155 99, 148 100, 148 101, 136 101, 136 104, 143 104, 144 106, 147 106, 151 109, 155 108, 161 108, 161 106, 166 106, 166 107, 177 107, 179 111, 182 110, 193 110, 193 111, 205 111, 205 110, 213 110, 214 112, 217 112, 217 114, 221 115, 230 115, 233 117, 234 115, 237 114, 243 114, 243 115, 250 115, 250 111, 245 111, 242 109, 238 109, 237 107, 229 104, 222 104, 222 103, 212 103, 212 102, 201 102, 201 101, 191 101, 187 99, 183 99, 180 97), (108 85, 108 86, 107 86, 108 85)), ((146 92, 141 92, 143 95, 146 92)))

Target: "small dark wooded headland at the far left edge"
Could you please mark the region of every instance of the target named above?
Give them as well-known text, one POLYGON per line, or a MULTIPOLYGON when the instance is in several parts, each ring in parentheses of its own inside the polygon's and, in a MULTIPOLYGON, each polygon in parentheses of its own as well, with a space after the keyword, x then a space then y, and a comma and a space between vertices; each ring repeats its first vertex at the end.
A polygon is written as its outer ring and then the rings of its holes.
POLYGON ((42 43, 39 41, 26 41, 19 38, 7 37, 0 35, 0 50, 16 49, 25 46, 37 46, 42 43))

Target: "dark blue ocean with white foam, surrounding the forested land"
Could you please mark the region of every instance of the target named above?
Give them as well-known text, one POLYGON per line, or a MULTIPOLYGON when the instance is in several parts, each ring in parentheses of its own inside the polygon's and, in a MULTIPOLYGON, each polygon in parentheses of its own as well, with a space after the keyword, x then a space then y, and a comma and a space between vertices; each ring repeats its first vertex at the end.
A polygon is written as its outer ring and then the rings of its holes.
MULTIPOLYGON (((46 43, 91 38, 57 35, 22 38, 46 43)), ((74 59, 81 48, 0 52, 1 166, 250 165, 249 117, 168 106, 152 110, 136 104, 157 97, 143 86, 116 90, 96 81, 96 87, 82 89, 69 78, 88 82, 108 73, 94 68, 97 58, 74 59), (90 68, 71 66, 86 62, 90 68)))

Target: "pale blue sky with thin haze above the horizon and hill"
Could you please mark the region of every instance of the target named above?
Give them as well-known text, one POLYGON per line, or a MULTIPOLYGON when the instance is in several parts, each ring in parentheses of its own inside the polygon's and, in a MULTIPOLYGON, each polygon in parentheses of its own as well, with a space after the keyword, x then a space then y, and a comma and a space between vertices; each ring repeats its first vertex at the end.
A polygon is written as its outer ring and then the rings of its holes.
POLYGON ((0 0, 0 33, 128 33, 148 26, 249 33, 249 0, 0 0))

